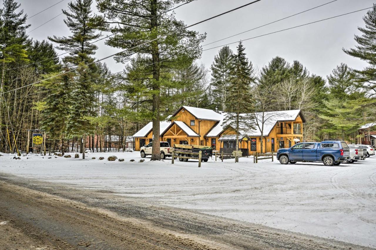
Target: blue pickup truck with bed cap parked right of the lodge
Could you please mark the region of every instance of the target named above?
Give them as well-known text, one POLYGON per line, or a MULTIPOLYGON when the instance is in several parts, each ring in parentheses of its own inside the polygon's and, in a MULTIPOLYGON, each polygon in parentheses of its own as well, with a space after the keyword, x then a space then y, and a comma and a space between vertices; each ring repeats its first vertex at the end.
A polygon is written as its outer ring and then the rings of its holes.
POLYGON ((350 149, 344 141, 302 142, 278 149, 277 159, 281 164, 321 161, 325 166, 333 166, 349 160, 350 149))

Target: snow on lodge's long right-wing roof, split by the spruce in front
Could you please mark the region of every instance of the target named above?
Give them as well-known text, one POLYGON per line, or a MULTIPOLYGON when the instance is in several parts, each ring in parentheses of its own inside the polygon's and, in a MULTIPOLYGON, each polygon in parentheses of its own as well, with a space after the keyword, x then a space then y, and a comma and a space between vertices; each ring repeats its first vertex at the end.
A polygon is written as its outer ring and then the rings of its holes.
MULTIPOLYGON (((263 134, 268 135, 278 121, 294 121, 296 117, 299 115, 299 113, 300 110, 270 111, 264 112, 264 115, 262 112, 260 112, 255 114, 255 123, 257 120, 261 127, 262 120, 264 120, 263 134)), ((220 134, 224 130, 224 117, 226 117, 226 113, 223 113, 221 121, 211 131, 209 131, 209 133, 206 135, 207 137, 218 136, 218 134, 220 134)), ((257 125, 255 125, 255 129, 248 131, 246 134, 247 136, 261 136, 261 130, 258 128, 257 125)))

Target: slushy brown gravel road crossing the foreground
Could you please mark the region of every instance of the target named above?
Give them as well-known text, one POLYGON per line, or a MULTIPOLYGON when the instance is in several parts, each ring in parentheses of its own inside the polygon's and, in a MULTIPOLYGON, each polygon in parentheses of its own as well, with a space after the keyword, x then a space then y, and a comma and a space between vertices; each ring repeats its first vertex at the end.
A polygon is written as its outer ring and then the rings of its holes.
POLYGON ((370 249, 13 175, 0 176, 2 249, 370 249))

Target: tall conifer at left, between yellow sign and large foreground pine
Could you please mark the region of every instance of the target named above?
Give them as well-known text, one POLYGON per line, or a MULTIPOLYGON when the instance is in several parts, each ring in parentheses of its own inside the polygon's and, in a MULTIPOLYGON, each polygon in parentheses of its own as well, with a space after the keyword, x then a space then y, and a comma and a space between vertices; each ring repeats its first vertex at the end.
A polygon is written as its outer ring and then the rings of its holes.
POLYGON ((71 51, 64 57, 63 62, 70 66, 77 66, 77 76, 74 78, 74 90, 71 93, 72 105, 67 119, 67 136, 81 137, 81 152, 85 158, 86 135, 94 133, 91 118, 96 115, 94 104, 93 78, 97 78, 97 65, 94 57, 97 45, 91 42, 101 34, 97 30, 101 27, 100 18, 91 14, 92 0, 76 0, 68 4, 69 11, 63 10, 67 16, 64 23, 72 32, 68 37, 49 37, 50 41, 59 44, 60 50, 71 51))

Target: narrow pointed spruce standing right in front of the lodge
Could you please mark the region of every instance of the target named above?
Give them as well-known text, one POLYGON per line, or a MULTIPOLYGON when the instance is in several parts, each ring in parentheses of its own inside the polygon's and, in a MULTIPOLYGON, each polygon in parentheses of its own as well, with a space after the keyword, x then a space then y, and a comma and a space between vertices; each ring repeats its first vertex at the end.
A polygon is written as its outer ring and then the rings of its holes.
POLYGON ((227 107, 227 116, 224 124, 232 127, 236 131, 236 150, 239 149, 239 135, 246 134, 254 128, 253 123, 253 105, 251 83, 255 81, 253 78, 253 65, 248 61, 246 53, 244 53, 242 42, 237 47, 237 54, 232 56, 230 70, 230 85, 227 107))

